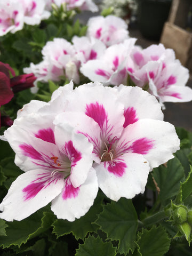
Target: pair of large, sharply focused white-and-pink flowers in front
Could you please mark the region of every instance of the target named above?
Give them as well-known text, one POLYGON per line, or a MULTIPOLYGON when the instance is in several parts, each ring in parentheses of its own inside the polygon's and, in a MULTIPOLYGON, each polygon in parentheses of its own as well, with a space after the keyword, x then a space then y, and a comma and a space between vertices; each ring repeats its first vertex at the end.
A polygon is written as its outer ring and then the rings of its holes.
POLYGON ((143 193, 148 173, 179 149, 158 101, 139 87, 89 83, 59 87, 33 100, 4 132, 25 173, 0 204, 0 217, 22 220, 52 201, 58 218, 84 215, 98 187, 110 199, 143 193))

